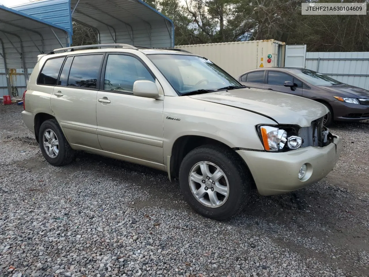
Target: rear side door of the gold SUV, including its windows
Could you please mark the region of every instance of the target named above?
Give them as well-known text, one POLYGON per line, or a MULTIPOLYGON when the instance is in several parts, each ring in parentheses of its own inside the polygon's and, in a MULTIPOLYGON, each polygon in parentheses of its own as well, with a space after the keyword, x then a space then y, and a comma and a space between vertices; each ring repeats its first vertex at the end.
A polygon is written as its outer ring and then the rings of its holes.
POLYGON ((71 144, 101 149, 96 96, 103 57, 101 53, 67 57, 54 87, 51 109, 71 144))

